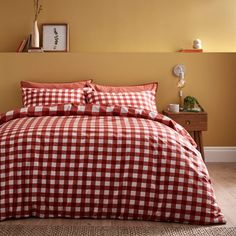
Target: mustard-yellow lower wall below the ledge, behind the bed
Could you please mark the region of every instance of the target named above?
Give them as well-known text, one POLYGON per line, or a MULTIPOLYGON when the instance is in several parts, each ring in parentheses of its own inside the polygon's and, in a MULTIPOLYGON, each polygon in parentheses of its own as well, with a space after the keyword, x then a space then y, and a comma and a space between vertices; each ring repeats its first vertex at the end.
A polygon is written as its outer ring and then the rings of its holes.
POLYGON ((196 96, 209 114, 207 146, 236 146, 236 54, 178 53, 0 53, 0 111, 20 106, 20 80, 102 84, 159 82, 158 108, 178 102, 172 67, 187 68, 185 95, 196 96))

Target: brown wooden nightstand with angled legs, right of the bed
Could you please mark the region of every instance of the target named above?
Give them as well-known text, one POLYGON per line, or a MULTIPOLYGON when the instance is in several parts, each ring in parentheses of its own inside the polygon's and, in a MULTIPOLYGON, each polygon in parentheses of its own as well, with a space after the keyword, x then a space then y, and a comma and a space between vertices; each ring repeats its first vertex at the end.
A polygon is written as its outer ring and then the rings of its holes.
POLYGON ((206 112, 178 112, 173 113, 163 111, 163 114, 170 117, 182 125, 193 137, 197 144, 197 149, 201 152, 205 161, 203 150, 202 131, 207 131, 207 113, 206 112))

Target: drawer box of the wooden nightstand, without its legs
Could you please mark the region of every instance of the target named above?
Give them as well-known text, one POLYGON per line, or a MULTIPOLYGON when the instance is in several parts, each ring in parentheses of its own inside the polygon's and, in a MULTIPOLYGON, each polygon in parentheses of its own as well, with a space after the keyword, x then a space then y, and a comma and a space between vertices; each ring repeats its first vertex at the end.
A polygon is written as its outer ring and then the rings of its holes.
POLYGON ((182 125, 187 131, 206 131, 207 130, 207 113, 171 113, 167 114, 175 122, 182 125))

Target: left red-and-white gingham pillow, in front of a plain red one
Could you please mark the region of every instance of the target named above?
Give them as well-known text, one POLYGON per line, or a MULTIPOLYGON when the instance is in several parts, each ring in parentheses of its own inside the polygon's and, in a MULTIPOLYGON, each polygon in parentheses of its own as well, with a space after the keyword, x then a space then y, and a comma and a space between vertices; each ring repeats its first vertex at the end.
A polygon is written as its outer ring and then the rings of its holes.
POLYGON ((85 104, 83 88, 77 89, 49 89, 49 88, 22 88, 23 105, 49 106, 56 104, 85 104))

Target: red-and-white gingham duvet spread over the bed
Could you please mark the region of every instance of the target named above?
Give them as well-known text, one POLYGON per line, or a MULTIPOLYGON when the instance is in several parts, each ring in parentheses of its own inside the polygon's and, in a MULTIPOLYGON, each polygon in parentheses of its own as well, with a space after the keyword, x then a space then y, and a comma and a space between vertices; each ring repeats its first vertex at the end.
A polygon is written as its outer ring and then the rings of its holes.
POLYGON ((160 114, 29 107, 0 116, 0 220, 225 223, 195 143, 160 114))

